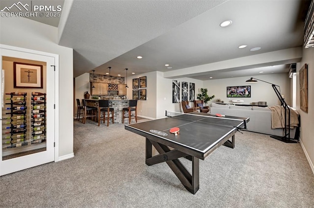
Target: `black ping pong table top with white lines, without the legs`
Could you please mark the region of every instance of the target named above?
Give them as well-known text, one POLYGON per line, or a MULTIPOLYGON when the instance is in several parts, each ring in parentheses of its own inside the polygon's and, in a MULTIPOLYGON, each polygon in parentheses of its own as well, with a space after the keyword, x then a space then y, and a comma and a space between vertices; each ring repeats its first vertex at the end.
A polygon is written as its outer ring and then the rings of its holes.
POLYGON ((173 148, 187 149, 190 155, 204 160, 248 120, 235 116, 191 113, 127 124, 125 129, 173 148), (178 136, 169 132, 173 127, 180 128, 178 136))

